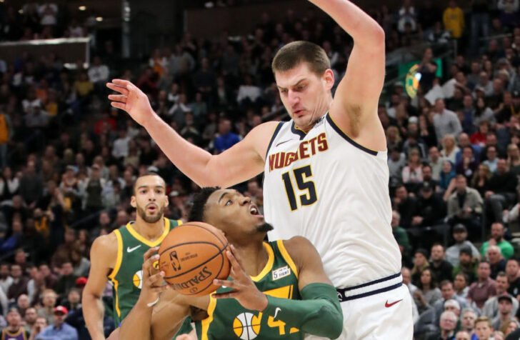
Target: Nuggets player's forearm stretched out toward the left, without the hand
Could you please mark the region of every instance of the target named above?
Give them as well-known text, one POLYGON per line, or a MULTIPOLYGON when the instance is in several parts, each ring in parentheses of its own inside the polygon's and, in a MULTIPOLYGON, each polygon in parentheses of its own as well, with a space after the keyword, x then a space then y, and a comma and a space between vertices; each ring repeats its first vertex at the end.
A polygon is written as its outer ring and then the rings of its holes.
POLYGON ((215 171, 207 169, 211 154, 191 144, 166 124, 159 116, 144 126, 170 161, 199 186, 219 186, 215 171), (210 170, 210 171, 208 171, 210 170))

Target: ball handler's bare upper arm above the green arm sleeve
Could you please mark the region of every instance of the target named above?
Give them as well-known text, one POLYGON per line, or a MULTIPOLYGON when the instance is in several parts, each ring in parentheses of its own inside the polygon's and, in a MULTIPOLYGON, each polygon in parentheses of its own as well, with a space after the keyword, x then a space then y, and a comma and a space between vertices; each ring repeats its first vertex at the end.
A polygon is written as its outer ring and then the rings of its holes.
POLYGON ((294 236, 284 241, 284 245, 298 268, 298 287, 300 290, 308 284, 332 285, 331 280, 325 274, 318 251, 308 239, 294 236))

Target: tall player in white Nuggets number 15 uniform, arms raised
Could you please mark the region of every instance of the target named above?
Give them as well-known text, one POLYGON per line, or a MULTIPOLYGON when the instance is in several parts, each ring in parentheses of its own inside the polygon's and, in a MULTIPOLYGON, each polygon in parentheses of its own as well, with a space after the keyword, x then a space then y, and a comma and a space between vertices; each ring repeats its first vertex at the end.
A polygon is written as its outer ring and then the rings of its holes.
POLYGON ((411 339, 411 299, 391 234, 386 139, 377 115, 384 83, 384 31, 348 0, 310 0, 354 39, 336 90, 323 49, 296 41, 280 49, 273 72, 291 116, 256 126, 231 149, 211 155, 154 113, 129 81, 107 84, 111 105, 144 126, 199 186, 228 187, 264 171, 270 239, 305 236, 321 255, 345 316, 339 339, 411 339))

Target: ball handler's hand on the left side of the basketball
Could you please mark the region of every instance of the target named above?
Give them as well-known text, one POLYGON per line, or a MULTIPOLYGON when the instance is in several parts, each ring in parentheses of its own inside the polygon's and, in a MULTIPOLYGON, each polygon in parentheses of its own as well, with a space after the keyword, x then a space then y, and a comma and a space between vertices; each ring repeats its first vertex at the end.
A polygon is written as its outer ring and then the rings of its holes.
POLYGON ((159 254, 155 254, 157 251, 159 251, 158 246, 148 249, 143 255, 143 286, 139 299, 150 307, 159 301, 159 293, 161 291, 170 289, 169 285, 164 284, 164 271, 154 268, 154 262, 159 260, 159 254))

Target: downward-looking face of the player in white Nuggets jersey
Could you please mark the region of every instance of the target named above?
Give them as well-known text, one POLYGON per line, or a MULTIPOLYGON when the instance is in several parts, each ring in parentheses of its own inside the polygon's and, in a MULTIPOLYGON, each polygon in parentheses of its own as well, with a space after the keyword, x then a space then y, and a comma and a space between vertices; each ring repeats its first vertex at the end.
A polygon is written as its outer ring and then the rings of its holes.
POLYGON ((310 129, 329 109, 334 86, 331 70, 318 76, 307 63, 301 63, 289 71, 276 72, 274 77, 281 102, 299 129, 310 129))

